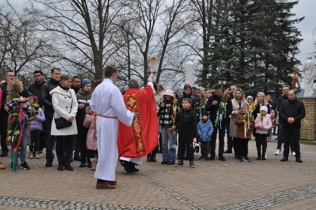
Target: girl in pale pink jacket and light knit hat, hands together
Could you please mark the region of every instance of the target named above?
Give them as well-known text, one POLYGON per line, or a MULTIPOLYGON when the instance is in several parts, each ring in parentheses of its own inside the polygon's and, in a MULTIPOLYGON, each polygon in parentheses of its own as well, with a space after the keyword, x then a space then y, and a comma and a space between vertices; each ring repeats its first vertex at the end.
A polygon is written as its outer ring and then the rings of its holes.
POLYGON ((262 160, 265 160, 265 151, 266 151, 266 139, 269 129, 272 128, 272 122, 270 119, 270 114, 267 114, 268 108, 266 106, 262 106, 260 108, 260 114, 258 114, 255 120, 255 128, 257 133, 257 151, 258 151, 258 158, 260 160, 261 157, 261 145, 262 145, 262 160))

